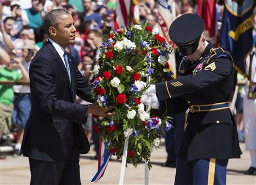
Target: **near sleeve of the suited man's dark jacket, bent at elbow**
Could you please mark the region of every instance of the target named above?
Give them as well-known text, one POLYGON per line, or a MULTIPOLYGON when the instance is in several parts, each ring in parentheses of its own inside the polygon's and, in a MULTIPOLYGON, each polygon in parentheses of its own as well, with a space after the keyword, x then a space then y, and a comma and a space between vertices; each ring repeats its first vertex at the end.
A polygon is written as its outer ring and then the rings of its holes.
POLYGON ((76 123, 86 121, 87 107, 66 102, 55 94, 55 72, 52 62, 36 56, 30 65, 30 88, 43 110, 52 116, 64 117, 76 123))

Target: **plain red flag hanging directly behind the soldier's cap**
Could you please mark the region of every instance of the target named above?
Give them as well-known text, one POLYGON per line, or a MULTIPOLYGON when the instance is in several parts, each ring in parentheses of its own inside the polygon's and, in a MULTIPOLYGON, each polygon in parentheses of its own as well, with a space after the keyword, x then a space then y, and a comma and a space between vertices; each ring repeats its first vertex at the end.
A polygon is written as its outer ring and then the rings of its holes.
POLYGON ((218 29, 216 20, 216 0, 197 0, 197 14, 204 19, 205 36, 218 46, 218 29))

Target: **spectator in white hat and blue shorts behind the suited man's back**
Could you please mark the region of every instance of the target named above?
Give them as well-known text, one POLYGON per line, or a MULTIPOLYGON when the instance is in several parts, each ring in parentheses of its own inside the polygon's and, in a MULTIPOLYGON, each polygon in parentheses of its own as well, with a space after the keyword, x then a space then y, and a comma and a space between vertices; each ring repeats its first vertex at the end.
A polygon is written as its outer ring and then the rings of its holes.
MULTIPOLYGON (((32 57, 34 57, 36 53, 35 41, 28 39, 24 40, 22 52, 22 57, 19 57, 17 61, 19 62, 19 65, 23 66, 23 80, 29 82, 30 79, 28 76, 28 70, 32 57)), ((15 85, 14 93, 14 112, 12 120, 16 127, 18 127, 19 129, 17 131, 17 142, 13 154, 15 157, 18 157, 20 153, 20 146, 22 144, 24 127, 26 125, 31 110, 30 86, 15 85)))

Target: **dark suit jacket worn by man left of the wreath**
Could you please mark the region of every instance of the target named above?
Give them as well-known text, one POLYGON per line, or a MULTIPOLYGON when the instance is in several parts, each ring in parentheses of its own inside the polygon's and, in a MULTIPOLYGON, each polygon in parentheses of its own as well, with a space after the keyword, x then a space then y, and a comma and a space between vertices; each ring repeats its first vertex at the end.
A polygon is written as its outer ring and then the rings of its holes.
POLYGON ((30 65, 32 108, 22 148, 24 156, 44 161, 65 161, 74 151, 89 152, 90 146, 81 123, 87 107, 75 103, 76 94, 89 100, 92 88, 68 54, 71 83, 67 69, 53 45, 36 53, 30 65))

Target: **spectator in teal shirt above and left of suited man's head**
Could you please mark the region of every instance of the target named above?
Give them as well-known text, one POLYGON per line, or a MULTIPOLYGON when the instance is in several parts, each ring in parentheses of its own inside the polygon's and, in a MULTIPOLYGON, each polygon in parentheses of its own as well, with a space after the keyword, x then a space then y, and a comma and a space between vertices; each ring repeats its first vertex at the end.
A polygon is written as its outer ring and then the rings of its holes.
POLYGON ((28 25, 36 30, 36 28, 42 26, 43 18, 46 15, 43 9, 42 3, 39 0, 31 0, 32 7, 31 9, 26 9, 26 13, 28 16, 28 25))

